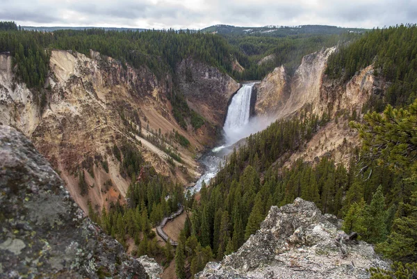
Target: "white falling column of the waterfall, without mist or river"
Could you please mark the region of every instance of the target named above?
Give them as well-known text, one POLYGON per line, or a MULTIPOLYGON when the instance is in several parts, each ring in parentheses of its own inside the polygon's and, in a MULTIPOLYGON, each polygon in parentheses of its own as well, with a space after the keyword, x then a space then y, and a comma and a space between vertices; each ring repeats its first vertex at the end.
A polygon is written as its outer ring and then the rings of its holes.
POLYGON ((246 83, 238 90, 227 110, 223 130, 228 143, 234 143, 245 134, 245 126, 249 123, 250 99, 254 83, 246 83))

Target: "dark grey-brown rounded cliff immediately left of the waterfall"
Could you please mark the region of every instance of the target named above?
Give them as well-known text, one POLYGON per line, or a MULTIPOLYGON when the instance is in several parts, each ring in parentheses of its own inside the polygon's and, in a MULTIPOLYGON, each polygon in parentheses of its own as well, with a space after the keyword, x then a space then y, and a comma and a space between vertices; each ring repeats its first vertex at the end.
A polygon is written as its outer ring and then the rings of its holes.
POLYGON ((218 127, 223 126, 227 104, 239 83, 216 67, 187 58, 177 67, 179 90, 188 105, 218 127))

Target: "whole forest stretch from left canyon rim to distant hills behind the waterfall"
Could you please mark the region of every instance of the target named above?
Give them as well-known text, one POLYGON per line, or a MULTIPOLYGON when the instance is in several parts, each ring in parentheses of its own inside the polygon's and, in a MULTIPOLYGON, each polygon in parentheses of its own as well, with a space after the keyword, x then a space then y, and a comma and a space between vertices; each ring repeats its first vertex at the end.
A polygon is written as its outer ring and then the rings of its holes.
POLYGON ((177 63, 192 56, 218 67, 235 79, 257 80, 283 64, 291 72, 300 65, 302 56, 361 36, 361 32, 346 33, 348 29, 337 29, 337 32, 320 30, 290 32, 278 37, 269 36, 269 33, 213 35, 206 31, 173 29, 85 29, 49 33, 19 31, 13 22, 3 22, 0 28, 0 52, 10 51, 16 57, 22 79, 29 86, 38 88, 43 84, 47 70, 44 67, 47 67, 49 59, 43 49, 70 49, 86 55, 93 49, 133 67, 147 65, 158 77, 167 71, 173 72, 177 63), (271 60, 258 63, 261 58, 271 54, 274 55, 271 60), (243 72, 234 69, 235 59, 245 69, 243 72))

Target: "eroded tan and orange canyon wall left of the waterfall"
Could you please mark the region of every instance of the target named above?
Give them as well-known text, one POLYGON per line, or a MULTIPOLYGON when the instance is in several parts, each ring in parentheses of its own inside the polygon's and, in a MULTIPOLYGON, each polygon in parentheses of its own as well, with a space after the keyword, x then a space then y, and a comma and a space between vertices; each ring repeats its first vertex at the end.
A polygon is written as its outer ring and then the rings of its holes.
POLYGON ((229 97, 239 88, 215 67, 192 59, 180 63, 177 79, 181 91, 190 107, 205 119, 199 129, 190 122, 184 129, 172 114, 169 98, 174 81, 170 74, 157 79, 147 67, 133 69, 97 51, 90 51, 88 57, 54 50, 49 64, 46 87, 50 90, 47 104, 41 107, 40 93, 28 90, 15 78, 12 57, 0 55, 0 122, 31 138, 84 211, 88 201, 97 210, 110 202, 123 202, 131 177, 122 175, 121 162, 111 150, 125 143, 138 148, 158 173, 181 184, 195 182, 202 172, 195 157, 217 141, 229 97), (191 79, 181 76, 184 65, 191 69, 191 79), (138 134, 140 127, 142 133, 138 134), (183 147, 172 140, 174 131, 190 145, 183 147), (181 154, 181 163, 174 161, 172 166, 170 155, 149 139, 162 137, 165 149, 181 154), (92 187, 85 197, 79 193, 80 171, 92 187), (104 185, 109 181, 110 189, 104 185))

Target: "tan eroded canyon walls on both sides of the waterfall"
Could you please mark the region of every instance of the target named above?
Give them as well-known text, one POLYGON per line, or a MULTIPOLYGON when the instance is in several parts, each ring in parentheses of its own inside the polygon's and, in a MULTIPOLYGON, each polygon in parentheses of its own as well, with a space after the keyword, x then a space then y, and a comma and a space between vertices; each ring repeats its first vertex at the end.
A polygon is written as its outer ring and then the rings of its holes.
MULTIPOLYGON (((328 79, 325 65, 334 51, 332 47, 306 55, 293 75, 281 66, 254 84, 251 117, 248 115, 246 120, 253 125, 247 125, 246 133, 231 141, 303 111, 319 117, 326 114, 331 119, 326 127, 285 161, 289 165, 300 157, 313 161, 332 154, 336 160, 347 163, 349 149, 358 143, 354 131, 347 129, 348 120, 341 116, 355 111, 360 117, 370 95, 383 92, 388 85, 373 75, 372 65, 347 83, 328 79)), ((50 68, 47 87, 51 91, 47 105, 41 109, 35 97, 39 93, 15 79, 12 57, 0 55, 0 122, 17 127, 31 138, 84 210, 88 200, 100 210, 119 196, 126 196, 131 177, 123 177, 120 161, 111 152, 114 145, 124 142, 136 146, 158 173, 193 185, 204 172, 196 159, 206 147, 213 148, 219 142, 227 107, 240 88, 227 74, 191 58, 179 63, 176 77, 167 74, 162 79, 157 79, 147 67, 133 69, 97 51, 90 51, 90 57, 72 51, 52 51, 50 68), (188 106, 204 117, 204 125, 199 129, 190 122, 184 129, 174 118, 170 103, 174 84, 178 84, 188 106), (139 126, 142 134, 132 132, 139 126), (174 161, 174 166, 168 162, 170 155, 149 141, 152 136, 169 138, 172 131, 190 141, 188 148, 172 140, 167 143, 181 154, 182 162, 174 161), (103 163, 108 164, 108 171, 103 163), (79 169, 86 182, 94 186, 86 198, 79 195, 79 169), (104 183, 109 180, 114 187, 106 191, 104 183)), ((225 125, 225 129, 231 129, 236 123, 225 125)))

